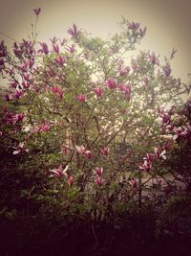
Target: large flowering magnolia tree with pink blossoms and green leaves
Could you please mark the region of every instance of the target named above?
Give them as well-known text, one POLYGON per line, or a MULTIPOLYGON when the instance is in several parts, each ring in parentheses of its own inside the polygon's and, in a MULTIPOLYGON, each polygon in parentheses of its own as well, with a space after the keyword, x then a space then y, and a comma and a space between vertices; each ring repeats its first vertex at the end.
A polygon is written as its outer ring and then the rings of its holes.
POLYGON ((180 115, 190 87, 171 73, 176 50, 163 61, 149 51, 130 58, 146 28, 124 18, 108 40, 73 24, 69 39, 38 42, 34 14, 30 38, 12 51, 0 44, 2 174, 31 180, 16 181, 17 198, 94 219, 156 205, 178 174, 167 167, 172 152, 191 137, 180 115))

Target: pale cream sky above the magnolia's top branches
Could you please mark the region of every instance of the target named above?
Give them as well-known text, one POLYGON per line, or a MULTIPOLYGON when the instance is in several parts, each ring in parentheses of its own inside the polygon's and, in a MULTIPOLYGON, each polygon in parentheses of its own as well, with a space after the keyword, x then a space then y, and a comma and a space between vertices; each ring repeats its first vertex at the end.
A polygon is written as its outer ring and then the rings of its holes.
MULTIPOLYGON (((147 27, 141 49, 160 57, 178 49, 173 74, 189 81, 191 73, 191 0, 0 0, 0 31, 16 40, 26 37, 34 21, 33 8, 40 7, 39 40, 65 37, 75 23, 93 35, 106 37, 119 31, 123 15, 147 27)), ((0 39, 11 43, 3 35, 0 39)))

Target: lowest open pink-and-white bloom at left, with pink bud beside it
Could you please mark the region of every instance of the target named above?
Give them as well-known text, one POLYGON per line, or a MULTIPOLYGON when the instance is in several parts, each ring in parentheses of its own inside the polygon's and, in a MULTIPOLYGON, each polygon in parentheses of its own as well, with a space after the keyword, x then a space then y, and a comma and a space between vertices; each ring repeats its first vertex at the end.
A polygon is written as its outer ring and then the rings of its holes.
POLYGON ((67 182, 69 184, 70 187, 72 187, 72 185, 74 184, 74 176, 73 175, 68 175, 67 171, 69 169, 69 165, 67 165, 64 169, 62 167, 62 165, 59 165, 58 168, 55 168, 53 170, 50 171, 51 177, 57 177, 57 178, 62 178, 63 176, 65 176, 67 178, 67 182))

